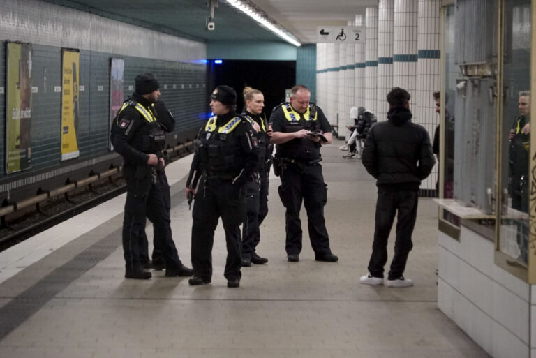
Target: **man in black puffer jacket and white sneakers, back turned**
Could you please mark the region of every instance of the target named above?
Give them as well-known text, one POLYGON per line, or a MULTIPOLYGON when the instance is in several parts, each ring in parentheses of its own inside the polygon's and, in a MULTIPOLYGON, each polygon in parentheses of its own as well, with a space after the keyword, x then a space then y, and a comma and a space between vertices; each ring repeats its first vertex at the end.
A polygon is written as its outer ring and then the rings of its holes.
POLYGON ((363 165, 376 179, 374 243, 368 275, 360 279, 367 285, 383 284, 383 267, 387 262, 387 238, 398 211, 394 258, 387 277, 390 287, 408 287, 413 282, 403 276, 413 244, 411 235, 417 218, 417 192, 421 181, 429 176, 435 159, 426 129, 410 119, 410 94, 394 87, 387 94, 387 121, 368 131, 363 149, 363 165))

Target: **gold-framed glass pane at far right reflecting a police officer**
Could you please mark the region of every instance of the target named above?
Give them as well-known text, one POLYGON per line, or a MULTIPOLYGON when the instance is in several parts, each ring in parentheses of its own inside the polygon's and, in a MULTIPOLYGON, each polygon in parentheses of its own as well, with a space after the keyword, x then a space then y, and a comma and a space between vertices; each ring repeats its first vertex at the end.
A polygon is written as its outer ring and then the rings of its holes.
POLYGON ((526 264, 530 150, 530 1, 505 1, 499 249, 526 264))

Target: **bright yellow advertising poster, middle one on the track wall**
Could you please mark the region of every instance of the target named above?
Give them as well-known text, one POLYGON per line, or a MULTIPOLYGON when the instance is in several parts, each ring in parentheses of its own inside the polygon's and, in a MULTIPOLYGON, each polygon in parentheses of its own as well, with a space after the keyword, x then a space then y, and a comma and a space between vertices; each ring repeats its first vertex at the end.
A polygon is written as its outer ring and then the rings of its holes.
POLYGON ((80 52, 63 50, 61 56, 61 160, 77 158, 80 52))

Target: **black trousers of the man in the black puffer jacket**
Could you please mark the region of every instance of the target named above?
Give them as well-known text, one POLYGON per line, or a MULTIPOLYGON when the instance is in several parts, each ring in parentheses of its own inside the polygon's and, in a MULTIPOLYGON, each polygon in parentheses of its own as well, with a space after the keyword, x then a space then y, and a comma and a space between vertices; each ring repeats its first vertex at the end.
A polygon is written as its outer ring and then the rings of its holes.
POLYGON ((403 275, 408 255, 413 248, 411 235, 417 219, 417 200, 417 191, 387 191, 378 188, 374 243, 371 260, 368 262, 368 272, 372 276, 383 277, 383 267, 387 262, 387 239, 396 211, 396 241, 388 279, 394 280, 403 275))

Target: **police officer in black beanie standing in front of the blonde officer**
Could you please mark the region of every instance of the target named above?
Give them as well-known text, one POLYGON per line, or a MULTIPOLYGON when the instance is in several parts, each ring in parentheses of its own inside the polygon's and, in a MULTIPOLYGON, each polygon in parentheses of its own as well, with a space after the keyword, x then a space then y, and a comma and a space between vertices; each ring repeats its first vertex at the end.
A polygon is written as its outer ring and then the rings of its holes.
POLYGON ((239 225, 244 217, 241 186, 253 180, 258 163, 258 144, 251 124, 236 111, 237 93, 218 86, 211 95, 214 113, 195 140, 186 196, 195 194, 192 225, 192 264, 190 285, 211 282, 214 230, 221 217, 227 241, 224 276, 229 288, 237 288, 241 278, 241 237, 239 225), (196 190, 195 188, 198 186, 196 190))

